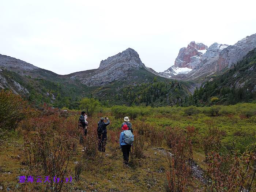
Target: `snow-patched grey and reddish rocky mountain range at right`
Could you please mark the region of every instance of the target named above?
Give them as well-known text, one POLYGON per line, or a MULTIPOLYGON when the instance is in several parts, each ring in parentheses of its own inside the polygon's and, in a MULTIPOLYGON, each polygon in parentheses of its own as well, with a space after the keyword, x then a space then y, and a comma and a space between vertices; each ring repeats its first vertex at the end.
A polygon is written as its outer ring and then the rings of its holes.
POLYGON ((159 74, 166 78, 203 82, 208 76, 231 68, 256 48, 256 34, 241 39, 234 45, 214 43, 209 48, 203 44, 191 42, 187 48, 181 48, 172 67, 159 74), (199 47, 201 45, 201 48, 199 47), (204 50, 199 50, 204 49, 204 50), (173 72, 179 67, 180 73, 173 72), (187 70, 191 68, 192 70, 187 70), (183 70, 182 70, 183 69, 183 70), (185 71, 185 72, 183 72, 185 71))

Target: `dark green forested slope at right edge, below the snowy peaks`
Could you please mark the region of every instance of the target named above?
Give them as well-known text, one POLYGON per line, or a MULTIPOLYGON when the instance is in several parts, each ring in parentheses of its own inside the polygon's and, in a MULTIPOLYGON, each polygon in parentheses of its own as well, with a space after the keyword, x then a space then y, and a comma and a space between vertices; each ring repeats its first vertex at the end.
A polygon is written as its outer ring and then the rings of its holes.
POLYGON ((195 90, 193 98, 196 103, 208 104, 256 100, 256 49, 246 54, 233 68, 208 77, 200 89, 195 90))

